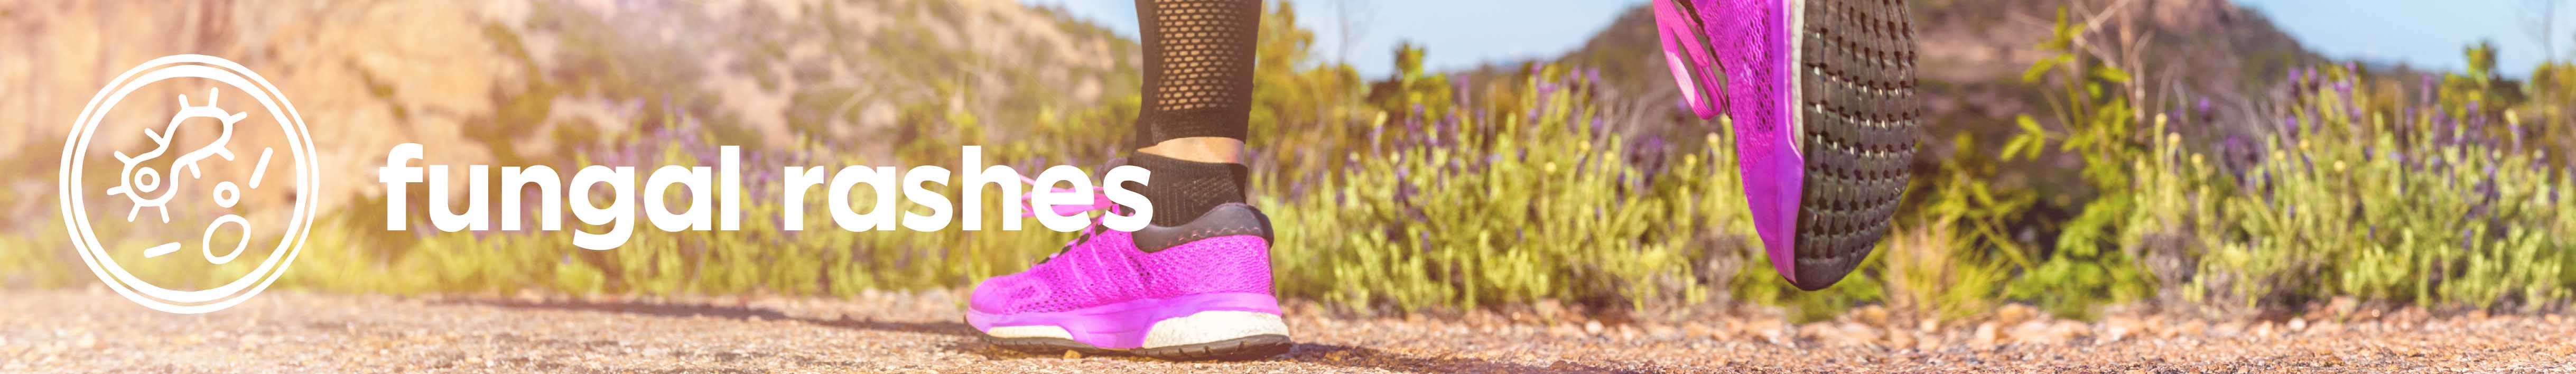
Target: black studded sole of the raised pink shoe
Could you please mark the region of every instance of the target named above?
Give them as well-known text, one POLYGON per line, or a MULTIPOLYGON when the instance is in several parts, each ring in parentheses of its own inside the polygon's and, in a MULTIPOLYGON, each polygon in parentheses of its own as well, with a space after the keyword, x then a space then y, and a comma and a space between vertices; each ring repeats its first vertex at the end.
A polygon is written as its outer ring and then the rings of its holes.
POLYGON ((1795 28, 1798 286, 1814 291, 1850 276, 1888 235, 1914 175, 1922 106, 1904 0, 1803 0, 1795 28))

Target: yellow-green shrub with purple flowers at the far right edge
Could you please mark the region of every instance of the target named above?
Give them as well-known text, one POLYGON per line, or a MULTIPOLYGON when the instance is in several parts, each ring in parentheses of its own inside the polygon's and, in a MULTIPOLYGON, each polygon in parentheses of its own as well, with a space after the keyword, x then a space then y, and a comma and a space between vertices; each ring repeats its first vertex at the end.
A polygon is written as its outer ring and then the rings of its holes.
POLYGON ((2133 162, 2146 173, 2130 222, 2151 227, 2138 235, 2182 235, 2174 245, 2200 258, 2187 297, 2251 307, 2349 294, 2481 310, 2568 297, 2576 204, 2561 196, 2563 168, 2478 129, 2524 126, 2517 116, 2488 121, 2439 101, 2375 108, 2362 101, 2375 88, 2347 67, 2298 80, 2316 83, 2293 93, 2287 129, 2262 139, 2259 160, 2223 168, 2166 134, 2133 162))

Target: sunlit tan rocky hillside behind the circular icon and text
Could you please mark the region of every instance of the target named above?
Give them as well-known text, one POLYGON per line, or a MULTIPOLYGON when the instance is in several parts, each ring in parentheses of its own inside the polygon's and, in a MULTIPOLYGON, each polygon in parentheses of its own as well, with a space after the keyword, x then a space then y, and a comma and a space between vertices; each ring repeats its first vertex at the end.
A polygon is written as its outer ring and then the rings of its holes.
MULTIPOLYGON (((312 126, 319 173, 368 181, 399 142, 430 144, 428 160, 446 165, 569 165, 662 119, 724 144, 886 157, 907 121, 1030 124, 1128 95, 1133 49, 1012 0, 10 0, 0 173, 54 175, 82 103, 162 54, 258 70, 312 126)), ((54 178, 5 178, 0 214, 49 217, 52 191, 54 178)), ((325 183, 322 201, 366 193, 376 188, 325 183)), ((28 222, 41 219, 0 230, 28 222)))

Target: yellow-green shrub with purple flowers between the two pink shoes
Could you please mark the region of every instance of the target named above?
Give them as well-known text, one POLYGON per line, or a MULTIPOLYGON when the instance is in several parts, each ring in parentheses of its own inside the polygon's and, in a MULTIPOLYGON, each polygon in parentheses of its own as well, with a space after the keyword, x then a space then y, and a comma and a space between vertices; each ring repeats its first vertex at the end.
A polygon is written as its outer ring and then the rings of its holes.
POLYGON ((1695 237, 1749 232, 1734 160, 1631 162, 1625 139, 1595 132, 1589 85, 1548 67, 1481 88, 1481 103, 1370 124, 1399 147, 1350 155, 1340 183, 1262 199, 1280 224, 1283 291, 1399 310, 1698 299, 1695 237))

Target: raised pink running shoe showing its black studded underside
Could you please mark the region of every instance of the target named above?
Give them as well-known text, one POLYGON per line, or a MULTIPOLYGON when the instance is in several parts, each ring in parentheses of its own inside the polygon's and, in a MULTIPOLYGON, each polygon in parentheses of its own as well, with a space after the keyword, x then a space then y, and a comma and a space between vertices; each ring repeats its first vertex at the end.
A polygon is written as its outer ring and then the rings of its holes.
POLYGON ((1850 276, 1922 134, 1906 0, 1654 0, 1654 21, 1690 111, 1734 119, 1772 271, 1808 291, 1850 276))

